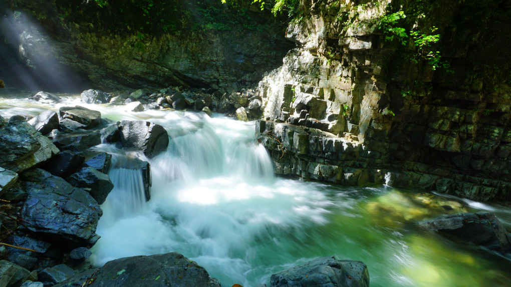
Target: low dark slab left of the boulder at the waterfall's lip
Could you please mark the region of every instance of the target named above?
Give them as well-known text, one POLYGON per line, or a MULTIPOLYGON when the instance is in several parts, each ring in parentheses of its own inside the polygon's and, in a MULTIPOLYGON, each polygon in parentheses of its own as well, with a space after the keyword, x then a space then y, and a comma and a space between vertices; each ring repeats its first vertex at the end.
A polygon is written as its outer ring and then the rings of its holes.
POLYGON ((84 131, 66 134, 53 141, 61 150, 82 152, 101 143, 100 131, 84 131))

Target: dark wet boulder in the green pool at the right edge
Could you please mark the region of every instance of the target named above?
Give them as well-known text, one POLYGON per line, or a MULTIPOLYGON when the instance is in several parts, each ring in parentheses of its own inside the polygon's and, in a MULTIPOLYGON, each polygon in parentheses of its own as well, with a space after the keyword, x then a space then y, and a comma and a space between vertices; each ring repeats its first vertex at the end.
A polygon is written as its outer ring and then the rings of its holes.
POLYGON ((493 213, 457 213, 424 221, 420 225, 502 254, 511 253, 511 238, 493 213))

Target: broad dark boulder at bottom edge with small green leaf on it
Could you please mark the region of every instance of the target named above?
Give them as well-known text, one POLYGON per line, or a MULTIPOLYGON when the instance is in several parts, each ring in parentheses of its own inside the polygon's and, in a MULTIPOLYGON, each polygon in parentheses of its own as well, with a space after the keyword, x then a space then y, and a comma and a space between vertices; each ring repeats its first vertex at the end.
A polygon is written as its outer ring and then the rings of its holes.
POLYGON ((203 267, 176 252, 115 259, 97 272, 84 271, 55 287, 79 287, 87 280, 90 287, 220 287, 203 267))

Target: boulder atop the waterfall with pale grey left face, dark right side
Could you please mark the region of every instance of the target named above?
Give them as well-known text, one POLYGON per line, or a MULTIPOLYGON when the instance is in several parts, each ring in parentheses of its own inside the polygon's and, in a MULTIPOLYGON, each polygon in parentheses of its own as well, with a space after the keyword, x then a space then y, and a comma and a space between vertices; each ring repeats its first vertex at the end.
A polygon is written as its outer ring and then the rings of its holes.
POLYGON ((144 121, 122 121, 121 143, 128 149, 142 151, 147 157, 167 150, 169 135, 164 127, 144 121))

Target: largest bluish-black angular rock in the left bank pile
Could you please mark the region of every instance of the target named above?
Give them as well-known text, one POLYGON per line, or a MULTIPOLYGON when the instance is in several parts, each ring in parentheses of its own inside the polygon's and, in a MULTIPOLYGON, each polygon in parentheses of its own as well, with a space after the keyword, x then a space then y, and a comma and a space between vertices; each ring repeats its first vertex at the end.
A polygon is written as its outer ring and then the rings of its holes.
POLYGON ((28 193, 21 209, 27 228, 62 247, 96 243, 103 212, 85 190, 41 169, 21 174, 20 181, 28 193))

